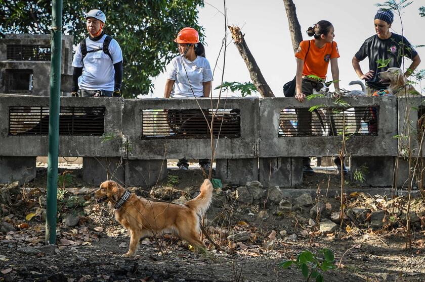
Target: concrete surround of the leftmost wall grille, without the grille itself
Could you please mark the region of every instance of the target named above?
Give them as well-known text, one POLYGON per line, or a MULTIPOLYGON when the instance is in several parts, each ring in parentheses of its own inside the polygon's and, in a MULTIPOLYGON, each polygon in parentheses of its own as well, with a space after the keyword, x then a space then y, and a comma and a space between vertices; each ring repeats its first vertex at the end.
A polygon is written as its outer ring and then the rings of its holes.
MULTIPOLYGON (((59 136, 59 156, 120 156, 121 98, 62 97, 61 106, 105 106, 104 131, 116 137, 102 142, 101 136, 59 136)), ((46 156, 48 136, 10 136, 9 106, 49 106, 49 97, 0 94, 0 156, 46 156)))

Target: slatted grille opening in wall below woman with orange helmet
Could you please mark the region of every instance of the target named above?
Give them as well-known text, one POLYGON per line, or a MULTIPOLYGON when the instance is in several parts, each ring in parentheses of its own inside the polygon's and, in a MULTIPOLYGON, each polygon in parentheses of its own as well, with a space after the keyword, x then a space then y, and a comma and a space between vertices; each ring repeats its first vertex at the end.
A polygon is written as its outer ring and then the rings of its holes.
POLYGON ((215 138, 240 137, 240 109, 144 109, 142 138, 210 138, 214 116, 215 138))

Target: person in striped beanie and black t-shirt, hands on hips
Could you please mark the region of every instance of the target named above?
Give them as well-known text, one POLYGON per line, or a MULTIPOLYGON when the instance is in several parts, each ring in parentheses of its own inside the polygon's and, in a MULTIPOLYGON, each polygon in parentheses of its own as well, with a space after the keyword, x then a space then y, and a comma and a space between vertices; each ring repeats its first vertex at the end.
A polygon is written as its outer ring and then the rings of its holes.
POLYGON ((379 9, 374 19, 376 34, 367 38, 353 57, 354 70, 360 79, 366 81, 367 96, 371 96, 377 90, 388 88, 388 84, 380 82, 378 73, 387 71, 388 68, 400 68, 403 55, 412 60, 405 73, 407 77, 420 63, 419 55, 409 41, 399 34, 390 32, 393 20, 394 14, 391 10, 379 9), (364 74, 359 63, 366 57, 369 59, 369 71, 364 74), (387 67, 378 68, 379 64, 376 62, 378 60, 390 60, 390 63, 387 67))

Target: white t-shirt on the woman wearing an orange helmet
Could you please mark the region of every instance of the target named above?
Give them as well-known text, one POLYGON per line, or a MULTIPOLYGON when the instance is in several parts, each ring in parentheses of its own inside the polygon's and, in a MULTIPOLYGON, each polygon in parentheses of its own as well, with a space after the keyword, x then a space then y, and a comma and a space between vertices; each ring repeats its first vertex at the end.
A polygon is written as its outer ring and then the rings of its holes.
POLYGON ((209 62, 201 56, 196 57, 191 62, 179 55, 171 60, 167 70, 167 78, 175 80, 173 90, 171 91, 172 98, 188 98, 193 97, 193 94, 196 97, 201 97, 204 94, 203 83, 212 80, 212 71, 209 62), (192 86, 193 92, 190 86, 192 86))

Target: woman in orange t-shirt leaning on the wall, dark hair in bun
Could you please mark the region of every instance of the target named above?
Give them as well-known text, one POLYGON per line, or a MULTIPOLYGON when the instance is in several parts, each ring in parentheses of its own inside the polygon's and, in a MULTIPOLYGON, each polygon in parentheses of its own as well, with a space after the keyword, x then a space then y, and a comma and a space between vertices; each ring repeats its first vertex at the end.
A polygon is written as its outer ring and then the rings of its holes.
MULTIPOLYGON (((309 27, 307 34, 314 36, 314 39, 301 41, 300 46, 295 52, 295 98, 300 102, 303 102, 306 96, 311 95, 313 89, 320 90, 322 88, 322 82, 325 82, 329 62, 335 91, 339 89, 339 69, 337 62, 339 53, 338 45, 333 41, 335 34, 332 24, 328 21, 319 21, 317 24, 309 27)), ((297 134, 299 136, 310 135, 311 112, 308 109, 298 109, 297 115, 297 134)), ((339 158, 334 160, 334 163, 337 165, 338 171, 340 171, 341 162, 339 158)), ((343 170, 344 173, 348 173, 345 165, 343 170)), ((303 172, 310 175, 314 174, 310 166, 310 158, 308 157, 303 158, 303 172)))

